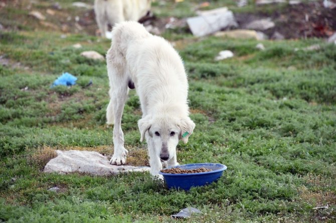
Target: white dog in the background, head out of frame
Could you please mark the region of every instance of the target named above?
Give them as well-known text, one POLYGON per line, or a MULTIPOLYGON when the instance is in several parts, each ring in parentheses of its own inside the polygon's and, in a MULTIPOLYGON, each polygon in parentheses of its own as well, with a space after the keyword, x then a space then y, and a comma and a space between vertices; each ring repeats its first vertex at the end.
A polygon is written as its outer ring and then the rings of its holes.
POLYGON ((107 36, 107 25, 137 21, 150 9, 151 0, 95 0, 94 12, 101 36, 107 36))

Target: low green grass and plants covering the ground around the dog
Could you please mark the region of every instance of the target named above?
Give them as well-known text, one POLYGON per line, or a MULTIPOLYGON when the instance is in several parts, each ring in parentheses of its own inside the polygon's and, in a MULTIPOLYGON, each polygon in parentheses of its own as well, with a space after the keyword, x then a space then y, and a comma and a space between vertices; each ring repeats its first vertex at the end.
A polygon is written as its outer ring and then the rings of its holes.
MULTIPOLYGON (((105 62, 80 56, 84 50, 104 55, 110 40, 92 30, 63 36, 61 29, 51 31, 28 15, 30 1, 0 2, 6 3, 0 9, 6 26, 0 30, 0 221, 335 221, 335 45, 318 38, 264 40, 265 50, 258 50, 257 40, 163 32, 185 61, 196 123, 188 144, 178 146, 178 161, 228 166, 216 183, 188 192, 168 190, 149 173, 102 177, 41 171, 55 149, 113 153, 112 130, 105 125, 105 62), (74 48, 75 43, 83 47, 74 48), (303 50, 312 44, 320 48, 303 50), (224 49, 235 56, 215 61, 224 49), (76 75, 77 84, 51 88, 62 72, 76 75), (61 189, 48 190, 53 186, 61 189), (171 218, 188 206, 203 213, 171 218)), ((199 2, 167 1, 167 9, 156 2, 154 9, 157 16, 184 17, 193 15, 190 8, 199 2)), ((234 5, 218 0, 213 7, 224 3, 234 5)), ((44 11, 52 4, 41 0, 31 7, 44 11)), ((90 16, 71 1, 59 4, 59 17, 50 21, 90 16)), ((136 124, 140 116, 131 91, 122 118, 127 161, 147 165, 136 124)))

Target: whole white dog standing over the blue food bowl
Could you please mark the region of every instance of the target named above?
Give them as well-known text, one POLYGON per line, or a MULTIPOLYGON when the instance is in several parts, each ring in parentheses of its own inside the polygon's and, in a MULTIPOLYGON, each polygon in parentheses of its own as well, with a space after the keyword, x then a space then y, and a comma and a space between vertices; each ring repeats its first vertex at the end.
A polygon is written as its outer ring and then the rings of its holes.
POLYGON ((178 165, 179 139, 187 143, 195 128, 189 117, 188 80, 180 55, 143 25, 125 21, 113 27, 106 60, 110 83, 106 117, 107 124, 114 124, 110 163, 120 165, 126 161, 121 116, 128 87, 135 87, 142 109, 138 121, 140 141, 146 138, 148 144, 150 173, 158 175, 161 161, 166 161, 167 166, 178 165))

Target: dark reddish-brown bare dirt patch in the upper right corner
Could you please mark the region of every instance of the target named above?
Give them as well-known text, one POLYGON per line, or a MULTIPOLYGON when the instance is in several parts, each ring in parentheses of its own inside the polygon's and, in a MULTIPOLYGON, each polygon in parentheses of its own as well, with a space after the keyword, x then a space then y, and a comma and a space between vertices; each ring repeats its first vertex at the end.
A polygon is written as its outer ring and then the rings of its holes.
POLYGON ((275 26, 264 30, 268 36, 275 31, 285 38, 328 37, 336 31, 336 8, 325 8, 322 1, 288 5, 273 13, 237 13, 239 26, 260 18, 270 17, 275 26))

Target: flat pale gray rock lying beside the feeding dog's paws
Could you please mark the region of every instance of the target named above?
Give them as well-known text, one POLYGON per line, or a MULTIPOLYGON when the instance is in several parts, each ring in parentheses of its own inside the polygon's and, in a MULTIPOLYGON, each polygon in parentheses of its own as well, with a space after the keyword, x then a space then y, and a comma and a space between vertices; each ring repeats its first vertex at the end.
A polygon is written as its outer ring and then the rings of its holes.
POLYGON ((148 171, 148 166, 111 165, 108 158, 95 151, 56 150, 57 156, 44 167, 44 172, 81 172, 93 175, 113 175, 120 172, 148 171))

